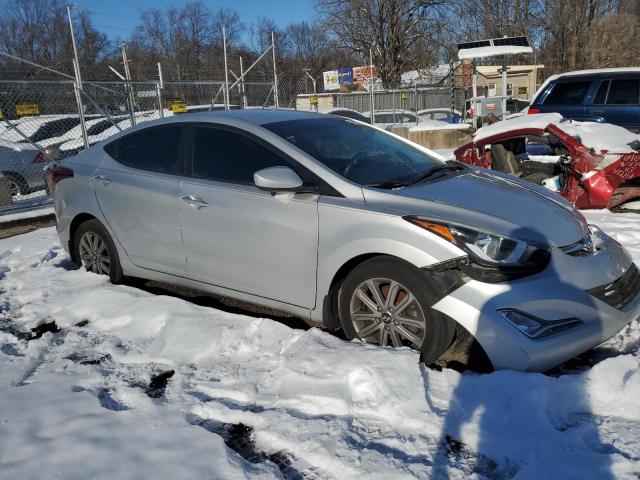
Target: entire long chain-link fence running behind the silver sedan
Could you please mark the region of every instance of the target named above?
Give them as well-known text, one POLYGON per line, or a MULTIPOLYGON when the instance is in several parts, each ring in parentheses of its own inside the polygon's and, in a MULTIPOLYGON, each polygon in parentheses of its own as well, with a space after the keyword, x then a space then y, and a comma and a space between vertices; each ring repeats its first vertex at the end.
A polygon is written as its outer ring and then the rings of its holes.
POLYGON ((450 88, 307 94, 299 81, 91 82, 0 80, 0 215, 50 203, 44 171, 132 125, 188 112, 287 108, 388 128, 460 121, 467 92, 450 88), (453 110, 452 110, 453 107, 453 110), (439 112, 429 112, 437 109, 439 112), (82 112, 82 115, 80 115, 82 112), (83 131, 84 123, 84 131, 83 131), (86 132, 86 141, 85 134, 86 132))

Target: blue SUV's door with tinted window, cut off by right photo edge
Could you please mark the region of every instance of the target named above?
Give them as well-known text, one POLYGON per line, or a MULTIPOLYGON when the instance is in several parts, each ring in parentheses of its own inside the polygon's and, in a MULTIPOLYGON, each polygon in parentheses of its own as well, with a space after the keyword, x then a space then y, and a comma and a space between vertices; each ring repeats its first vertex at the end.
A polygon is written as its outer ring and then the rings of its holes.
POLYGON ((603 80, 588 109, 594 120, 640 129, 640 77, 603 80))

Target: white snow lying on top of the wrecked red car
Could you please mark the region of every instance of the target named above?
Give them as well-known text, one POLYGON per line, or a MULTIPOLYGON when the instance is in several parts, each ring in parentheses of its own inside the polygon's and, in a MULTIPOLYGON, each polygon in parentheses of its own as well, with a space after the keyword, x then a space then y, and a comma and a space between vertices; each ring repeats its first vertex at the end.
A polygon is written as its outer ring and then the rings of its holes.
POLYGON ((629 143, 640 141, 640 135, 610 123, 578 122, 566 120, 559 113, 538 113, 535 115, 522 115, 480 128, 475 136, 475 141, 484 140, 494 135, 503 134, 523 128, 544 130, 548 125, 559 127, 568 135, 578 138, 587 148, 594 149, 597 153, 633 153, 629 143))

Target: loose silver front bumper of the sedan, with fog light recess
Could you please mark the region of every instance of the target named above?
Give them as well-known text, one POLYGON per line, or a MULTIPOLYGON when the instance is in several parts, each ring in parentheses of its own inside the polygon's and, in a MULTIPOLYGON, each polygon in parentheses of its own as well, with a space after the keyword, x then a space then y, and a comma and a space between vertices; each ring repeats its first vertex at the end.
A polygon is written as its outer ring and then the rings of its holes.
POLYGON ((554 249, 547 268, 530 277, 494 284, 469 280, 433 308, 467 329, 494 368, 544 371, 608 340, 640 316, 640 273, 624 248, 607 238, 590 255, 554 249), (528 335, 526 319, 505 312, 531 317, 531 331, 544 335, 528 335), (536 319, 542 330, 536 330, 536 319))

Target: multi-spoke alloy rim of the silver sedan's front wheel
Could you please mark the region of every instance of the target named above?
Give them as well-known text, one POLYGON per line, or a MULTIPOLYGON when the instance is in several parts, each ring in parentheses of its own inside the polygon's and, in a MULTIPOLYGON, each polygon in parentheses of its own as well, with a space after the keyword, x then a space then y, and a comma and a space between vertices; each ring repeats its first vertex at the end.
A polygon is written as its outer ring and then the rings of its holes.
POLYGON ((351 321, 361 340, 393 347, 424 342, 426 322, 416 296, 404 285, 387 278, 371 278, 353 292, 351 321))

